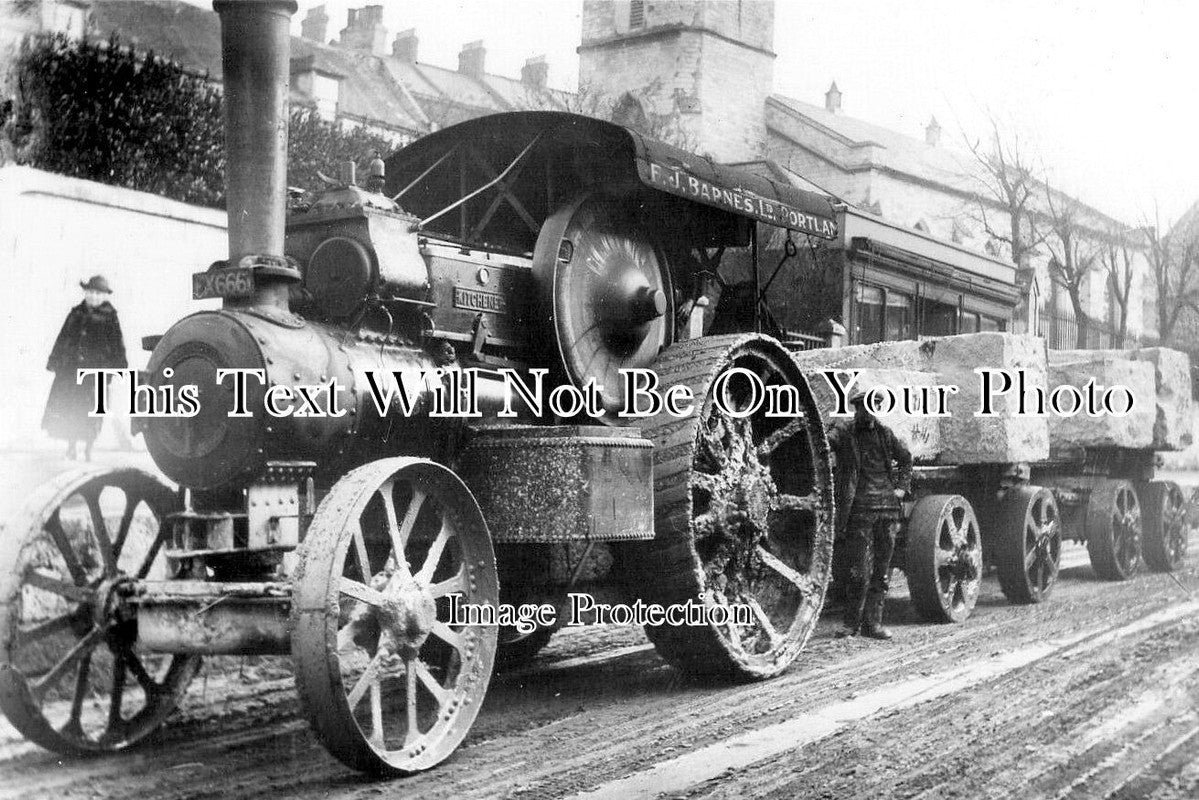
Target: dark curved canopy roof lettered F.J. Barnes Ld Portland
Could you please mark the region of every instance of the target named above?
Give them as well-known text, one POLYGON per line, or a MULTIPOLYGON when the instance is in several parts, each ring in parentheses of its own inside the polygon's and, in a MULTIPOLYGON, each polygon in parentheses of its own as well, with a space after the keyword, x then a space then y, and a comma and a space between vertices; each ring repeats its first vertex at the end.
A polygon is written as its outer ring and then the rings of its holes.
POLYGON ((837 236, 832 201, 823 194, 578 114, 481 116, 418 139, 387 161, 387 193, 403 191, 399 204, 426 221, 424 229, 518 252, 532 249, 554 210, 596 188, 639 196, 646 206, 665 211, 655 224, 669 224, 669 210, 683 203, 821 239, 837 236), (481 187, 487 188, 453 206, 481 187), (662 194, 674 203, 663 204, 662 194), (444 213, 428 219, 438 212, 444 213))

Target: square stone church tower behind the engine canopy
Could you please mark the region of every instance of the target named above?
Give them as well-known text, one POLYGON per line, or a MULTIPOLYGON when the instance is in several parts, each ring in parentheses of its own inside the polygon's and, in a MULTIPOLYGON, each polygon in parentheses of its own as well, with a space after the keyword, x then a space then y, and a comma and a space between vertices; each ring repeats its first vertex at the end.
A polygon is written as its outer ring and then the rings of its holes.
POLYGON ((585 0, 583 113, 718 162, 765 152, 773 0, 585 0))

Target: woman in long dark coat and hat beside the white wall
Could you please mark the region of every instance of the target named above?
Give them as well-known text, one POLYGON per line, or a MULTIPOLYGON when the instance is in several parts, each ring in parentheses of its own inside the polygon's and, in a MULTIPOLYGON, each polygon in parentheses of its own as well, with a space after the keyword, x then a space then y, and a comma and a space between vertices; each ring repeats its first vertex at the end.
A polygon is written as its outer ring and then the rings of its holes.
POLYGON ((78 443, 84 443, 84 457, 91 461, 91 445, 100 434, 102 417, 88 416, 92 405, 92 381, 82 385, 76 372, 86 368, 123 369, 125 338, 116 309, 108 301, 113 289, 102 275, 80 282, 84 300, 67 312, 62 330, 54 341, 46 368, 54 373, 50 397, 46 401, 42 427, 55 439, 66 439, 67 458, 77 457, 78 443))

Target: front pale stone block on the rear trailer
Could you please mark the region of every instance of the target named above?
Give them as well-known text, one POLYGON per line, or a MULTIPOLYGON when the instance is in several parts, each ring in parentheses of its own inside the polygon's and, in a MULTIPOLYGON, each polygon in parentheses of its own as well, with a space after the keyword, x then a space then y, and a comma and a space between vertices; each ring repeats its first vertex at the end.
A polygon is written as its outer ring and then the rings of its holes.
MULTIPOLYGON (((1135 399, 1129 413, 1116 416, 1101 414, 1091 416, 1084 408, 1073 416, 1050 411, 1049 439, 1054 450, 1076 447, 1128 447, 1147 449, 1153 444, 1153 422, 1157 416, 1155 402, 1155 367, 1147 361, 1135 361, 1122 350, 1058 350, 1049 353, 1050 387, 1061 385, 1083 390, 1095 381, 1096 391, 1111 386, 1126 386, 1135 399)), ((1115 396, 1114 396, 1115 397, 1115 396)), ((1116 398, 1119 410, 1123 410, 1122 397, 1116 398)), ((1073 401, 1064 398, 1066 410, 1073 401)))

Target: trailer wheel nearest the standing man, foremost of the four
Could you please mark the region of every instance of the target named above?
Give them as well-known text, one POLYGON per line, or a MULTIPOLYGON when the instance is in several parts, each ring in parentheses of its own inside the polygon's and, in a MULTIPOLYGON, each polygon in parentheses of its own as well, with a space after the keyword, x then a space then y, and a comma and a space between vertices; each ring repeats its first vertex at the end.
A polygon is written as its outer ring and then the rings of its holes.
POLYGON ((908 518, 905 572, 916 612, 929 622, 964 622, 978 600, 982 540, 960 494, 921 498, 908 518))

